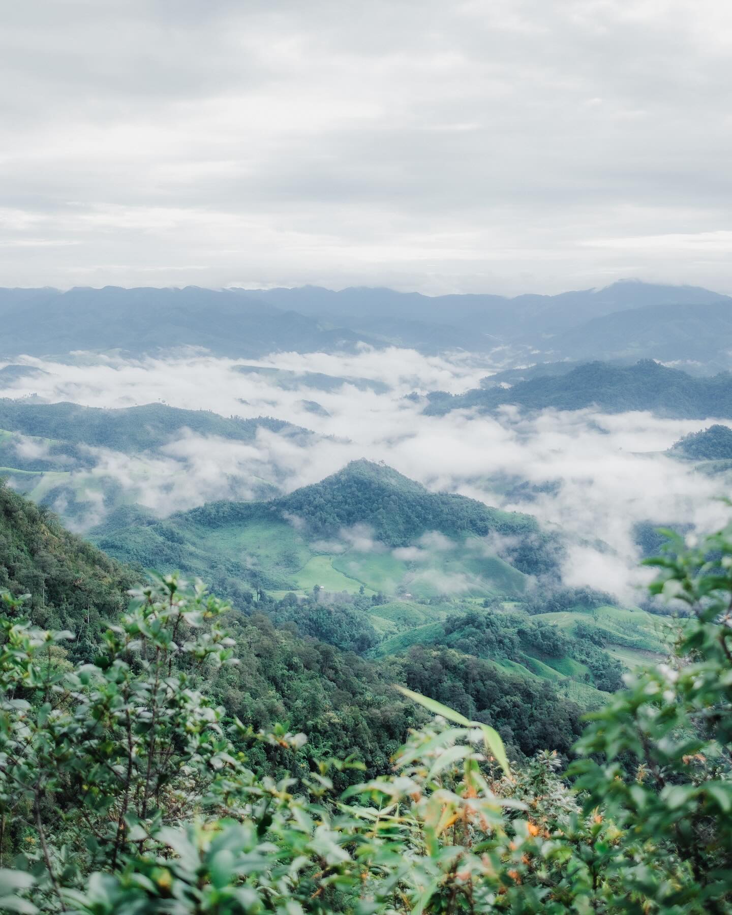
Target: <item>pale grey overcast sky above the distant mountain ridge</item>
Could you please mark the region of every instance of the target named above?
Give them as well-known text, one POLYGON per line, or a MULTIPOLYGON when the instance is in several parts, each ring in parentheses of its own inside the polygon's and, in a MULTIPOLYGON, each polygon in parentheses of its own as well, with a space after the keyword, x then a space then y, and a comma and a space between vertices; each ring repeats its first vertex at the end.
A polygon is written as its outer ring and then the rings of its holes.
POLYGON ((732 292, 724 0, 27 0, 0 285, 732 292))

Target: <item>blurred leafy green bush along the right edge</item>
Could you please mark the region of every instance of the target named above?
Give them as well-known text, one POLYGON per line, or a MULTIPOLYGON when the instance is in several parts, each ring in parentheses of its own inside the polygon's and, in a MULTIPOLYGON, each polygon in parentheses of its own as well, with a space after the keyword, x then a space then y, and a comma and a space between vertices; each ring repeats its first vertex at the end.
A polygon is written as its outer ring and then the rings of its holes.
POLYGON ((672 532, 651 592, 681 602, 668 663, 626 677, 573 764, 587 804, 622 831, 619 910, 732 911, 732 526, 692 545, 672 532), (635 908, 633 908, 635 906, 635 908))

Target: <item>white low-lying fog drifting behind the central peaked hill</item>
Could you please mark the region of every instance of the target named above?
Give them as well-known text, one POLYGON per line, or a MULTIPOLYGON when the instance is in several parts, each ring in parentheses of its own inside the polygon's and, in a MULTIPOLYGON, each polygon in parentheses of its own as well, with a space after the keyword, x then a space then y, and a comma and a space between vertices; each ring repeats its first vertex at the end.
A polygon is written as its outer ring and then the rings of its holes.
MULTIPOLYGON (((281 353, 263 361, 215 359, 186 352, 170 359, 125 360, 79 354, 73 364, 26 358, 48 372, 16 381, 0 396, 35 394, 124 407, 163 402, 230 416, 274 416, 312 429, 306 438, 260 430, 254 443, 188 434, 151 458, 98 449, 92 474, 117 479, 136 501, 159 512, 203 501, 250 498, 254 481, 290 491, 322 479, 354 458, 382 460, 431 490, 450 490, 515 511, 529 511, 570 535, 568 584, 590 584, 632 597, 646 578, 633 542, 636 522, 692 523, 711 529, 727 510, 715 497, 719 478, 694 473, 661 452, 714 420, 659 419, 646 413, 546 410, 496 417, 459 411, 425 416, 413 392, 459 393, 491 365, 464 354, 364 349, 356 355, 281 353), (277 376, 242 365, 286 370, 277 376), (296 374, 293 374, 296 373, 296 374), (350 382, 314 378, 325 373, 350 382), (378 383, 374 383, 378 382, 378 383), (174 494, 171 479, 177 479, 174 494), (520 488, 522 482, 529 486, 520 488), (543 486, 551 482, 552 486, 543 486), (533 487, 543 487, 535 490, 533 487), (610 552, 598 548, 608 544, 610 552)), ((100 520, 90 517, 90 525, 100 520)))

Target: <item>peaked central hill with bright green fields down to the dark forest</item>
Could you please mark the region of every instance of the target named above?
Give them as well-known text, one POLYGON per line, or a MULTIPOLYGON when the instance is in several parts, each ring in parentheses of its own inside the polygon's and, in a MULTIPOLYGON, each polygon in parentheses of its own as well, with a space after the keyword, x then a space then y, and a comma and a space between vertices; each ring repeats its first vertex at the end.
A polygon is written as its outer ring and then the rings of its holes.
MULTIPOLYGON (((274 600, 265 610, 274 619, 374 657, 458 648, 532 681, 548 680, 585 706, 597 703, 598 688, 618 688, 623 667, 666 650, 662 618, 621 608, 609 595, 563 589, 561 540, 530 516, 430 493, 365 461, 285 498, 132 522, 92 535, 138 567, 208 576, 242 606, 274 600), (478 637, 468 648, 458 620, 476 614, 492 614, 514 635, 492 645, 478 637), (605 661, 589 659, 592 673, 587 652, 594 649, 542 641, 533 637, 535 624, 559 627, 570 641, 577 627, 594 626, 605 661), (603 663, 612 674, 600 673, 603 663)), ((469 620, 465 627, 474 631, 469 620)))

